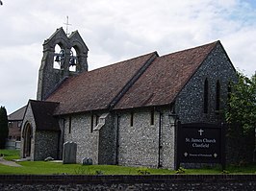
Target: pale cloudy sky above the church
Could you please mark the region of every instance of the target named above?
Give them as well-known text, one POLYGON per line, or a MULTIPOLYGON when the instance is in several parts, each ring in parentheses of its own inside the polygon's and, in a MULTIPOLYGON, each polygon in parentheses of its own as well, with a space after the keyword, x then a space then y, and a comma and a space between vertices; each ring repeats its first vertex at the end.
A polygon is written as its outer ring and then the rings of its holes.
POLYGON ((220 40, 234 66, 256 70, 255 0, 2 0, 0 106, 36 99, 42 43, 66 16, 89 52, 89 69, 157 51, 160 56, 220 40))

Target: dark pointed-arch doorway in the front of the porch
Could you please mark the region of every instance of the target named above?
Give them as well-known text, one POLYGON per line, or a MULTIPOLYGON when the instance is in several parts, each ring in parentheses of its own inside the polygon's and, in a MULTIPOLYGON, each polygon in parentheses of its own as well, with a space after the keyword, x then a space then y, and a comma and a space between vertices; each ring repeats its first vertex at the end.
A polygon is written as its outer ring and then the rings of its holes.
POLYGON ((30 157, 31 155, 31 139, 32 139, 32 127, 28 123, 23 131, 24 145, 23 145, 23 157, 30 157))

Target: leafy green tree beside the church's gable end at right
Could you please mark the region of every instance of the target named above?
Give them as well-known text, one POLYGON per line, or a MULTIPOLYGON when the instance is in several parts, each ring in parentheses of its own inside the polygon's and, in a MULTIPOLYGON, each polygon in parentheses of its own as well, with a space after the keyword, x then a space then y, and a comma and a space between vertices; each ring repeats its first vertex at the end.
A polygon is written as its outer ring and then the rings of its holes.
POLYGON ((238 73, 238 77, 238 82, 231 84, 225 111, 227 155, 233 163, 246 163, 255 157, 256 73, 251 78, 238 73))

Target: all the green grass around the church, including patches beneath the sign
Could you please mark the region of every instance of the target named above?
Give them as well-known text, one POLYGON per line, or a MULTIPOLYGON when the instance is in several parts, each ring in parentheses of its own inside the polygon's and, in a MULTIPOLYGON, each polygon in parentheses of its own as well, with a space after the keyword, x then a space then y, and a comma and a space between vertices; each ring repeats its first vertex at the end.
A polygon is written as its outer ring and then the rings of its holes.
MULTIPOLYGON (((0 150, 0 154, 4 155, 7 160, 19 158, 19 151, 0 150)), ((136 167, 123 167, 116 165, 89 165, 81 164, 63 164, 56 162, 44 161, 23 161, 17 162, 21 167, 11 167, 0 164, 0 174, 16 174, 16 175, 173 175, 176 171, 167 169, 149 169, 136 167)), ((221 168, 203 168, 203 169, 185 169, 179 171, 181 174, 221 174, 221 168)), ((256 174, 256 164, 246 165, 243 167, 228 166, 226 173, 230 174, 256 174)))

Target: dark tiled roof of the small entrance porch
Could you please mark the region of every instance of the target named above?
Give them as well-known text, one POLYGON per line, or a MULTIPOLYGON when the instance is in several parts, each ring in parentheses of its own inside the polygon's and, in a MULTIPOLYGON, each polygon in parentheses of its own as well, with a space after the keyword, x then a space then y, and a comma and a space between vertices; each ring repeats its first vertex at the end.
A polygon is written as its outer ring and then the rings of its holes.
POLYGON ((30 100, 37 130, 60 131, 59 123, 53 116, 59 103, 30 100))

